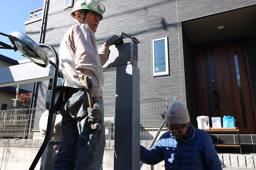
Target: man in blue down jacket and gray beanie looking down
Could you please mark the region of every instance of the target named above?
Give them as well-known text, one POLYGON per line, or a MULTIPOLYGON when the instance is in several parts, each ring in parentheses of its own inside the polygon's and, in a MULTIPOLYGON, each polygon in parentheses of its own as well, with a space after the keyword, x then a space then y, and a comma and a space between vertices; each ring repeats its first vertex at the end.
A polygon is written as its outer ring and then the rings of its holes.
POLYGON ((155 165, 164 160, 165 169, 222 169, 210 135, 192 126, 185 105, 170 105, 165 121, 168 132, 149 150, 141 146, 141 162, 155 165))

